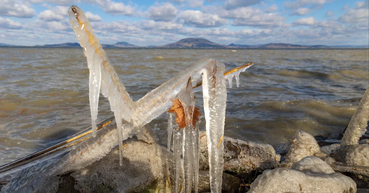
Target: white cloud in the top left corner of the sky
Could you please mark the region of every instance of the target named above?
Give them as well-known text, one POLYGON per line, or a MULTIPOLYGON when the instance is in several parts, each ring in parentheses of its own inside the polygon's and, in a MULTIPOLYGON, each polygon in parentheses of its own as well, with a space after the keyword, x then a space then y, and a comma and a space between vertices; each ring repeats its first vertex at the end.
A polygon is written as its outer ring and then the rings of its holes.
POLYGON ((0 15, 20 18, 31 18, 35 15, 35 10, 29 4, 22 1, 2 0, 0 3, 0 15))

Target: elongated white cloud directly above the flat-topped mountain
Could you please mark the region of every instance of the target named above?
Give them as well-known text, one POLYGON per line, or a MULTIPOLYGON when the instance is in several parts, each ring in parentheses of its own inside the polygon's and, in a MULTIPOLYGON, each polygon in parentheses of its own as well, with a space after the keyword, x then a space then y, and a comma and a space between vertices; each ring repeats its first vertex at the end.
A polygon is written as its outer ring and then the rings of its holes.
POLYGON ((199 28, 218 27, 228 23, 227 19, 220 18, 215 14, 203 13, 201 11, 186 10, 178 15, 180 22, 184 25, 196 26, 199 28))

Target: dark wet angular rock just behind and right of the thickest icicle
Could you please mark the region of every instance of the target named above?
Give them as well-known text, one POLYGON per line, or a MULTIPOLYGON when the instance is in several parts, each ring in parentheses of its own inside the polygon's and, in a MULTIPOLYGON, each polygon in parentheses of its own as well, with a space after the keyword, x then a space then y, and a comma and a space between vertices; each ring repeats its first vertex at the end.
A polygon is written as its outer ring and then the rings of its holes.
MULTIPOLYGON (((254 143, 223 137, 224 143, 224 171, 245 178, 250 172, 262 172, 274 169, 279 164, 279 156, 269 144, 254 143)), ((199 141, 200 170, 207 170, 208 152, 207 140, 204 132, 200 132, 199 141)), ((253 174, 254 176, 255 174, 253 174)))

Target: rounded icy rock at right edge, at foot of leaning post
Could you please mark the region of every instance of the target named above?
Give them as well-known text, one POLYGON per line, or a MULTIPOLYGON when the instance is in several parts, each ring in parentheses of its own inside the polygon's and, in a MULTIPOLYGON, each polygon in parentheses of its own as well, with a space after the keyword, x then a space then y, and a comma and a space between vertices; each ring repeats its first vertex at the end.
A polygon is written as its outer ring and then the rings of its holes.
POLYGON ((337 162, 369 167, 369 144, 341 145, 330 156, 337 162))

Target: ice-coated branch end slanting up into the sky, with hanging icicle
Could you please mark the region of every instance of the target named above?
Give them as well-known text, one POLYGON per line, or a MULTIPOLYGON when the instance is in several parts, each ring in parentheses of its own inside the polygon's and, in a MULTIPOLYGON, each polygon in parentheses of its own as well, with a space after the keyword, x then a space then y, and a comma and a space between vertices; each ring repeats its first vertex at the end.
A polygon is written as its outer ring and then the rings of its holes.
POLYGON ((115 110, 115 103, 118 100, 116 96, 125 96, 125 100, 120 104, 124 109, 126 109, 124 113, 121 112, 125 120, 131 120, 131 111, 135 108, 135 104, 124 89, 124 86, 121 86, 120 90, 117 91, 120 94, 115 93, 115 90, 120 85, 119 78, 115 73, 114 68, 111 67, 99 40, 94 35, 91 24, 85 13, 79 7, 71 6, 68 9, 68 14, 69 22, 72 24, 72 29, 75 32, 81 47, 83 47, 83 53, 86 55, 87 64, 90 69, 89 98, 93 127, 92 134, 93 136, 96 136, 96 126, 93 123, 96 122, 97 119, 97 105, 99 103, 101 82, 103 82, 102 93, 104 96, 108 97, 112 111, 115 110), (104 77, 101 78, 101 75, 104 77), (103 81, 101 81, 101 79, 103 79, 103 81))

